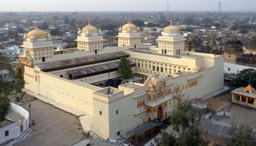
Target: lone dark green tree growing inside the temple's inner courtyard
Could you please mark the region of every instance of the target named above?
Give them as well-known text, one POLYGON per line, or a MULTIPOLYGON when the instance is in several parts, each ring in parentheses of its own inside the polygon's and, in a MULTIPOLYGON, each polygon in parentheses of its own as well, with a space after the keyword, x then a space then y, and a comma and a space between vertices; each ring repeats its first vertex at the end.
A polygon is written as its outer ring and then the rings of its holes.
POLYGON ((118 66, 118 73, 121 74, 122 78, 131 78, 132 77, 132 69, 130 66, 130 60, 125 57, 120 59, 120 65, 118 66))

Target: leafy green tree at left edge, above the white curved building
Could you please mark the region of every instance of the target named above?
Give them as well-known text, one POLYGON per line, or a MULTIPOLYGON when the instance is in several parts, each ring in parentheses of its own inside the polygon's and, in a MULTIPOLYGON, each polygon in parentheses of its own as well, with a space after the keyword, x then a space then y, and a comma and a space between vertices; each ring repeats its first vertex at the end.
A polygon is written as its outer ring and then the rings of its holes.
POLYGON ((4 78, 4 74, 0 73, 0 123, 5 120, 5 116, 8 114, 10 103, 8 96, 14 96, 15 100, 19 102, 25 92, 23 91, 25 81, 22 79, 22 72, 17 72, 19 67, 17 64, 11 63, 10 60, 5 58, 3 54, 0 54, 0 66, 7 70, 4 78))

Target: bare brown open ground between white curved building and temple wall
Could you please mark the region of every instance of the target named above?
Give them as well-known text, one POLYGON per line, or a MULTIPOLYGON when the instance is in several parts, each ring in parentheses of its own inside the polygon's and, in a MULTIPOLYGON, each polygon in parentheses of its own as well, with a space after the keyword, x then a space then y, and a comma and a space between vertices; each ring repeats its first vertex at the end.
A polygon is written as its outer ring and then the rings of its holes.
POLYGON ((14 146, 70 146, 86 137, 77 116, 31 97, 25 97, 21 105, 27 111, 29 101, 35 126, 30 127, 32 131, 25 140, 14 146))

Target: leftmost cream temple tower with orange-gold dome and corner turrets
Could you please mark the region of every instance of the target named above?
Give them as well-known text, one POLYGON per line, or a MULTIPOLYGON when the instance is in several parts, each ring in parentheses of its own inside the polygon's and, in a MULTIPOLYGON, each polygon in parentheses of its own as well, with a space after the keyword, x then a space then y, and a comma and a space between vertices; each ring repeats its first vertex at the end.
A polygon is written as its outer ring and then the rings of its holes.
POLYGON ((20 63, 25 66, 33 67, 33 64, 52 61, 52 36, 40 30, 37 23, 35 23, 34 30, 24 35, 23 45, 21 46, 24 48, 25 53, 29 52, 29 54, 24 53, 24 55, 19 56, 20 63))

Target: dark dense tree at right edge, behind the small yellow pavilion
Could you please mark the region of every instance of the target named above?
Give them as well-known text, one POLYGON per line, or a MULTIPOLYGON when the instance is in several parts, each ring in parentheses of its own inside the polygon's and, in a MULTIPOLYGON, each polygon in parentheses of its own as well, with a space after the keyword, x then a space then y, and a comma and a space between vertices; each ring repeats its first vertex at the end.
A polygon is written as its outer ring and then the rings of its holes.
POLYGON ((229 87, 235 89, 238 87, 247 87, 249 84, 256 87, 256 70, 244 69, 241 70, 233 81, 229 82, 229 87), (249 83, 250 82, 250 83, 249 83))

